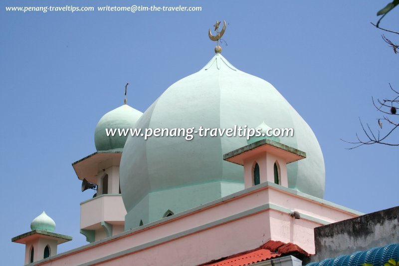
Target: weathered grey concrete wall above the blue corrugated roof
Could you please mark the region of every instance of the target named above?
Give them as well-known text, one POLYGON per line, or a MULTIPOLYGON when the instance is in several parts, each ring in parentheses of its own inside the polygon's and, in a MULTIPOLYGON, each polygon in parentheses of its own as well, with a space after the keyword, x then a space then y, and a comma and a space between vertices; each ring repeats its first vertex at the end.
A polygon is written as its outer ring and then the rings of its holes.
POLYGON ((315 228, 312 262, 399 243, 399 207, 315 228))

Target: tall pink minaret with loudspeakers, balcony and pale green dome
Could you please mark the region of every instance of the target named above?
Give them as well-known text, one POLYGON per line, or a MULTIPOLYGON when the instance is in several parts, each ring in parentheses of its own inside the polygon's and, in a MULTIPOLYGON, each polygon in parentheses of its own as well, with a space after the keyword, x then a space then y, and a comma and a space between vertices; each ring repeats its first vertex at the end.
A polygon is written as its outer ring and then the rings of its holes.
POLYGON ((80 203, 80 233, 90 243, 124 231, 126 209, 119 185, 119 164, 127 136, 120 130, 134 128, 142 112, 124 104, 106 113, 97 123, 94 133, 96 152, 72 164, 82 180, 82 192, 96 189, 92 198, 80 203), (115 134, 107 134, 116 130, 115 134))

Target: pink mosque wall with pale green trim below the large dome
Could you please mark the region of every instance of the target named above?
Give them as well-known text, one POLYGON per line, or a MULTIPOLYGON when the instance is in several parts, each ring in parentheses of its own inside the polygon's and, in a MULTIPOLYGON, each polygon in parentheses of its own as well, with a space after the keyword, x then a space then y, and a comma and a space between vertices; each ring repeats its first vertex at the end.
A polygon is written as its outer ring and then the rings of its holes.
POLYGON ((151 244, 111 261, 110 265, 129 265, 133 261, 134 265, 198 265, 258 248, 268 240, 291 242, 313 254, 313 228, 321 225, 317 219, 335 222, 357 216, 273 186, 260 186, 258 190, 236 195, 192 212, 165 218, 164 222, 154 222, 132 233, 123 233, 42 265, 79 265, 189 230, 192 230, 189 235, 151 244), (262 207, 268 203, 277 207, 262 207), (259 210, 251 213, 256 207, 259 210), (316 221, 294 219, 284 210, 299 211, 316 221), (221 221, 223 224, 206 226, 221 221), (201 226, 204 227, 197 228, 201 226))

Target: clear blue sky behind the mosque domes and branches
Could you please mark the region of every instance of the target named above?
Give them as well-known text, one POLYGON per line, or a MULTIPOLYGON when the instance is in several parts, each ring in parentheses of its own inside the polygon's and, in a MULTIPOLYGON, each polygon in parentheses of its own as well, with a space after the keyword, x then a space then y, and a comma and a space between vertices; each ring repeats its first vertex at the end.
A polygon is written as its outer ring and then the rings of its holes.
MULTIPOLYGON (((398 148, 346 150, 340 139, 377 129, 371 97, 399 88, 398 56, 370 22, 384 1, 3 0, 0 15, 0 237, 4 265, 23 263, 28 232, 43 210, 72 236, 58 252, 84 245, 80 192, 71 163, 95 151, 103 114, 128 103, 144 112, 171 84, 213 56, 207 30, 229 25, 223 56, 261 77, 315 132, 326 164, 325 200, 370 213, 399 205, 398 148), (6 12, 31 5, 194 5, 200 12, 6 12), (4 257, 4 255, 7 255, 4 257)), ((398 9, 398 8, 397 8, 398 9)), ((381 26, 398 27, 399 10, 381 26)), ((387 34, 395 40, 396 36, 387 34)), ((396 38, 396 40, 398 40, 396 38)), ((383 128, 386 130, 386 127, 383 128)), ((398 134, 390 139, 399 142, 398 134)))

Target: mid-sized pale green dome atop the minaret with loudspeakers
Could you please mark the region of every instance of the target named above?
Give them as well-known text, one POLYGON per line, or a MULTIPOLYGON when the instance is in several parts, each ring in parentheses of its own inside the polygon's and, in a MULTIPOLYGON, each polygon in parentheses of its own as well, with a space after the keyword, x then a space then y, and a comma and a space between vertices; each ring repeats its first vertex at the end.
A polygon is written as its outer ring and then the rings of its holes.
POLYGON ((97 151, 123 150, 127 136, 119 136, 118 132, 114 136, 107 136, 105 129, 134 128, 142 114, 142 112, 124 104, 101 117, 94 133, 97 151))

